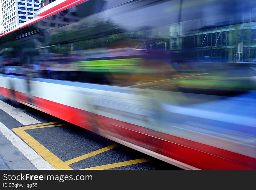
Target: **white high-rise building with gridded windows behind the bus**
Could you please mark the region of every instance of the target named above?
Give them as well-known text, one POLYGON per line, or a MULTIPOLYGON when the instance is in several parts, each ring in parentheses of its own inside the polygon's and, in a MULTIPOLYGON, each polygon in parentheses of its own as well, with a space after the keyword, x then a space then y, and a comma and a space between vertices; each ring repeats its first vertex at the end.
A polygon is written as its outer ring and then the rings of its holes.
POLYGON ((39 9, 41 0, 1 0, 3 32, 13 30, 17 25, 32 19, 39 9))

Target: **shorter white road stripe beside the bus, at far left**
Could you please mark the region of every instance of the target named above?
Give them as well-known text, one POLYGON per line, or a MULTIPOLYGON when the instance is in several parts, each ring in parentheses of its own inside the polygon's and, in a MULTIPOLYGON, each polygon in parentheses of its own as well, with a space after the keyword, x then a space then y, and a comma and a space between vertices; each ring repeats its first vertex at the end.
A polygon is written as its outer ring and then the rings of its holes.
POLYGON ((41 123, 40 121, 29 116, 28 114, 25 114, 20 109, 17 109, 1 100, 0 100, 0 109, 2 109, 4 112, 6 112, 7 114, 15 118, 22 125, 32 125, 36 123, 41 123))

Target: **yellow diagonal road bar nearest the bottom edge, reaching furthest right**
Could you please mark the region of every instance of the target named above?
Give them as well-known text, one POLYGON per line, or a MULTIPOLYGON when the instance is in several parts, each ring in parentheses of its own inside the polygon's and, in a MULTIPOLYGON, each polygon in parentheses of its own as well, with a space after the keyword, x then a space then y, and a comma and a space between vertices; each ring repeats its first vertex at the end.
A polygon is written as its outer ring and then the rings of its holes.
POLYGON ((90 167, 90 168, 84 168, 82 170, 87 170, 87 169, 111 169, 111 168, 116 168, 116 167, 122 167, 122 166, 127 166, 127 165, 132 165, 132 164, 138 164, 138 163, 143 163, 143 162, 148 162, 150 161, 147 158, 141 158, 141 159, 136 159, 136 160, 129 160, 125 162, 117 162, 114 164, 107 164, 107 165, 102 165, 102 166, 95 166, 95 167, 90 167))

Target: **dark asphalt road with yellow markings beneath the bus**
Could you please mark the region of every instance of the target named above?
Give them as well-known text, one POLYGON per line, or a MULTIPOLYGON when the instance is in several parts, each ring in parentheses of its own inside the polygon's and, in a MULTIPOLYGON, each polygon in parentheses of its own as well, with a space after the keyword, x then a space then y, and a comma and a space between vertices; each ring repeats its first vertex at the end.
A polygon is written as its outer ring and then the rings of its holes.
POLYGON ((0 122, 55 169, 180 169, 2 95, 0 101, 13 106, 12 114, 0 107, 0 122), (21 113, 38 120, 40 126, 20 123, 21 113))

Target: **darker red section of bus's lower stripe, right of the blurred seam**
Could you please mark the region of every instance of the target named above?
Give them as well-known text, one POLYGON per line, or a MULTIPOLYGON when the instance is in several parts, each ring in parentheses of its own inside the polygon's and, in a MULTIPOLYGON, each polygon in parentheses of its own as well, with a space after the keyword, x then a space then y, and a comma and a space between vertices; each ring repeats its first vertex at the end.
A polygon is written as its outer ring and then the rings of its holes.
POLYGON ((109 135, 200 169, 256 169, 256 159, 192 140, 97 115, 109 135))

